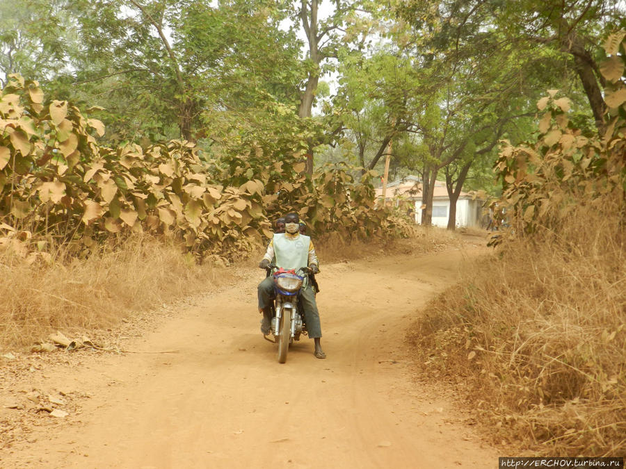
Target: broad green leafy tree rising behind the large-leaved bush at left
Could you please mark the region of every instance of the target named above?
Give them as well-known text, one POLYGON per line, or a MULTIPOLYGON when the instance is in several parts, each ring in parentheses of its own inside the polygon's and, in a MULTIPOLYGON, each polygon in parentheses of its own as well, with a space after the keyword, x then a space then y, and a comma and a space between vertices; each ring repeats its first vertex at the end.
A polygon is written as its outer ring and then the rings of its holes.
POLYGON ((286 15, 280 2, 73 0, 70 6, 82 49, 71 57, 75 72, 49 87, 55 94, 72 88, 74 96, 106 108, 114 142, 210 139, 211 117, 224 110, 296 103, 299 47, 294 33, 279 27, 286 15))

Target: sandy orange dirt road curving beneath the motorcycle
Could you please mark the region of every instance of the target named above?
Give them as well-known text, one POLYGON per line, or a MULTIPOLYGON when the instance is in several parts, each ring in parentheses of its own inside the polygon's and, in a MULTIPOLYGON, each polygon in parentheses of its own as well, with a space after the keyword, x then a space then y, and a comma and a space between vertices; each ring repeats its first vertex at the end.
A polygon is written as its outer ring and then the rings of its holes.
MULTIPOLYGON (((412 315, 476 248, 323 266, 323 346, 280 365, 255 311, 259 270, 136 339, 136 350, 49 370, 90 399, 6 454, 3 467, 487 468, 497 453, 444 397, 415 383, 412 315)), ((43 379, 43 378, 42 378, 43 379)))

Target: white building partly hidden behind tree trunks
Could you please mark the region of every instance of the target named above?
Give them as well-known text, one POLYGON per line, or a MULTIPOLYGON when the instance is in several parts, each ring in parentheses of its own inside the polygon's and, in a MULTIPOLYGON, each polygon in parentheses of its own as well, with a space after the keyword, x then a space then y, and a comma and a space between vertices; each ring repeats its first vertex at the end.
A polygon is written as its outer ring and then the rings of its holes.
MULTIPOLYGON (((422 220, 422 181, 417 176, 406 176, 387 184, 387 192, 385 194, 387 203, 391 200, 396 206, 401 201, 411 204, 415 213, 415 222, 422 220)), ((383 197, 383 188, 376 189, 376 197, 383 197)), ((482 199, 477 199, 470 192, 460 192, 456 201, 456 226, 457 227, 481 227, 483 220, 483 204, 482 199)), ((435 193, 433 195, 433 225, 445 228, 448 226, 448 217, 450 215, 450 198, 446 189, 446 183, 443 181, 435 182, 435 193)))

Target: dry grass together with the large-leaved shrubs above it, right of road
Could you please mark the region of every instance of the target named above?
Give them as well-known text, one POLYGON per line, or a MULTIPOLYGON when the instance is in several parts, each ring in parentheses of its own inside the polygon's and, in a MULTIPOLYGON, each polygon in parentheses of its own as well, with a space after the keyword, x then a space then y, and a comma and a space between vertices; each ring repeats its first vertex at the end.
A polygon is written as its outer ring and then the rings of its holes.
MULTIPOLYGON (((607 61, 624 63, 623 37, 607 61)), ((612 104, 626 88, 603 70, 612 104)), ((539 101, 538 140, 505 143, 495 165, 494 252, 410 332, 422 372, 458 379, 495 442, 527 454, 626 450, 625 100, 600 136, 572 125, 567 99, 539 101)))

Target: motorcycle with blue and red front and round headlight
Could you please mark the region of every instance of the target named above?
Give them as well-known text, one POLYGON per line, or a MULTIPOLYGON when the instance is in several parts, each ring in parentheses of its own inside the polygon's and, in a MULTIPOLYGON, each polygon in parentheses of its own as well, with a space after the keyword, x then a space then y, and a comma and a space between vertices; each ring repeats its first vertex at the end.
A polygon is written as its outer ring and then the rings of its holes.
POLYGON ((268 274, 273 277, 275 294, 270 328, 273 340, 267 336, 264 338, 272 343, 278 343, 278 363, 284 363, 287 361, 289 345, 294 343, 294 340, 300 340, 300 335, 307 335, 307 324, 298 293, 311 269, 303 267, 296 271, 280 268, 271 273, 274 269, 277 269, 276 265, 268 266, 268 274))

